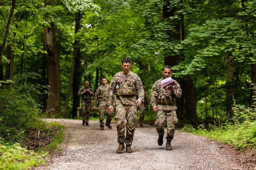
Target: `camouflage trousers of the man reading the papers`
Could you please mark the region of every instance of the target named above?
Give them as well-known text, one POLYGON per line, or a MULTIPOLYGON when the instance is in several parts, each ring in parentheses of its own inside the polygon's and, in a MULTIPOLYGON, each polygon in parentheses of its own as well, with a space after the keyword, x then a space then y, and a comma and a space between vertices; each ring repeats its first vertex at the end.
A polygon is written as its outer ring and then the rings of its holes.
POLYGON ((172 140, 175 133, 175 124, 178 123, 176 110, 158 110, 156 115, 156 131, 159 135, 164 135, 164 127, 167 124, 166 139, 172 140))

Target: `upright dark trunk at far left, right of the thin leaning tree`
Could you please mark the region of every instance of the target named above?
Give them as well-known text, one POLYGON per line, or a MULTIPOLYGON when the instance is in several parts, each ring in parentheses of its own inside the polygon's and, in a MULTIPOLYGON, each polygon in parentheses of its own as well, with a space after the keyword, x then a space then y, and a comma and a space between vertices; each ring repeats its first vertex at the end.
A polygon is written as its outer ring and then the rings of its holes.
MULTIPOLYGON (((13 79, 13 50, 11 45, 7 45, 7 59, 9 60, 6 62, 5 66, 5 80, 12 80, 13 79)), ((11 83, 5 83, 6 86, 12 86, 11 83)))

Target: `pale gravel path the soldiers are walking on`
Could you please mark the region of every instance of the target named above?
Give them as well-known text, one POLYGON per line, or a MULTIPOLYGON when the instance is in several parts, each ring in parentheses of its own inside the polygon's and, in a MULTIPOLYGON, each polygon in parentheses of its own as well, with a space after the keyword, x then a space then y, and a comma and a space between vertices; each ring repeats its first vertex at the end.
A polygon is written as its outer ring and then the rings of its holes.
MULTIPOLYGON (((32 169, 254 169, 252 153, 234 152, 231 146, 197 135, 176 131, 172 151, 157 145, 154 126, 138 126, 131 148, 133 153, 116 153, 118 148, 116 122, 113 129, 100 130, 99 121, 47 119, 67 126, 62 151, 49 156, 47 166, 32 169)), ((165 129, 166 135, 166 129, 165 129)), ((256 168, 255 168, 256 169, 256 168)))

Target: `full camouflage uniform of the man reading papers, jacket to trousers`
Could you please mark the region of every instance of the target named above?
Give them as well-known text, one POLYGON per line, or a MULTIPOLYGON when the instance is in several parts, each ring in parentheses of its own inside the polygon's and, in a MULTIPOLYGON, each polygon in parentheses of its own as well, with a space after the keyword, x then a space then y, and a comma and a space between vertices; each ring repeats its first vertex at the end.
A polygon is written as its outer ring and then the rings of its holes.
POLYGON ((180 89, 180 85, 178 82, 175 82, 176 86, 173 91, 165 90, 162 88, 161 80, 159 79, 155 82, 151 89, 151 106, 157 106, 157 115, 155 126, 157 133, 159 135, 164 135, 164 127, 167 124, 167 140, 172 140, 174 135, 174 127, 175 124, 178 123, 177 115, 176 115, 176 99, 181 97, 182 90, 180 89))

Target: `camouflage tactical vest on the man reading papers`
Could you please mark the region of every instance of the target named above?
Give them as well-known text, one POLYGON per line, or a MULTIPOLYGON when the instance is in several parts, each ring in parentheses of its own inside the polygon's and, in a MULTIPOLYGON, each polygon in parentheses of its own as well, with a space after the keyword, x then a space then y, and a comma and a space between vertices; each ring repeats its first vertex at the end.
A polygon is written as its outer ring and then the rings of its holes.
POLYGON ((160 93, 158 94, 157 103, 158 104, 173 104, 176 106, 176 97, 174 95, 172 95, 170 92, 168 92, 168 93, 162 92, 162 84, 160 81, 158 83, 159 83, 160 93))

